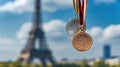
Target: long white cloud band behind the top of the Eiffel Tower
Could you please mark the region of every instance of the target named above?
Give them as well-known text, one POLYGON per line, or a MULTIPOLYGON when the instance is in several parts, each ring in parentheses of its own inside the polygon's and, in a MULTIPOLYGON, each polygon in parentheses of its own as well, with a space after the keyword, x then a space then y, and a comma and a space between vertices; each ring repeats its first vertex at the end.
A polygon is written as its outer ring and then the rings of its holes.
MULTIPOLYGON (((44 11, 54 12, 58 9, 69 8, 72 4, 70 0, 42 0, 44 11)), ((9 12, 26 12, 32 11, 34 7, 34 0, 15 0, 7 2, 0 6, 0 11, 9 12)))

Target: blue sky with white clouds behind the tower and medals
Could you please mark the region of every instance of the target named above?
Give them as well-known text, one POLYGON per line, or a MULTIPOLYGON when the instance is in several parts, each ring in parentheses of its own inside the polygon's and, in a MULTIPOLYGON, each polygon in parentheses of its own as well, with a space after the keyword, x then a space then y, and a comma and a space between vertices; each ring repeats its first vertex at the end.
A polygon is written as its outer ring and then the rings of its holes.
MULTIPOLYGON (((27 42, 33 21, 34 0, 0 1, 0 61, 16 60, 27 42)), ((112 55, 119 54, 120 1, 89 0, 86 24, 93 37, 93 47, 84 53, 76 51, 65 31, 74 18, 72 0, 43 0, 43 25, 49 47, 57 60, 102 57, 104 44, 112 46, 112 55)))

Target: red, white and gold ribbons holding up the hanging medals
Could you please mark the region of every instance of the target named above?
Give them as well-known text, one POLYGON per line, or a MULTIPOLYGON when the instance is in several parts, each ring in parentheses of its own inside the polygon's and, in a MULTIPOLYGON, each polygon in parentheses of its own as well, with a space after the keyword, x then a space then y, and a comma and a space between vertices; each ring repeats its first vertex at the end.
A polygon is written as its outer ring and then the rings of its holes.
POLYGON ((75 15, 79 19, 80 25, 83 25, 85 17, 86 17, 86 10, 88 7, 88 0, 73 0, 75 15))

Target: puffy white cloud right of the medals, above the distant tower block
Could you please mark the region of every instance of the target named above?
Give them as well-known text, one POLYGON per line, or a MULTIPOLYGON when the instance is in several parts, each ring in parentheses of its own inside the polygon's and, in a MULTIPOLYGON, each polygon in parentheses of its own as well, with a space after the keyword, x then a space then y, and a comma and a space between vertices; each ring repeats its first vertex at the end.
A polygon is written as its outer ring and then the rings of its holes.
POLYGON ((120 39, 120 24, 118 25, 110 25, 105 29, 100 27, 94 27, 88 31, 93 37, 99 38, 103 43, 109 42, 109 40, 115 41, 116 39, 120 39))

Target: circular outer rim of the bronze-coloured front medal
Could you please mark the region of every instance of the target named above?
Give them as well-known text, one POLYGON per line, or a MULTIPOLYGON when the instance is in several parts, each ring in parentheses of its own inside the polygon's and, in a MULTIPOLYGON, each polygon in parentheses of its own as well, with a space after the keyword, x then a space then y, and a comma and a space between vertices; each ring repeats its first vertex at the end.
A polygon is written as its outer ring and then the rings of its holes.
POLYGON ((92 46, 93 46, 93 39, 92 39, 92 37, 91 37, 88 33, 78 31, 78 32, 73 36, 73 38, 72 38, 72 45, 73 45, 73 47, 74 47, 76 50, 81 51, 81 52, 85 52, 85 51, 89 50, 90 48, 92 48, 92 46), (80 50, 80 49, 77 49, 77 48, 75 47, 75 44, 73 43, 73 39, 74 39, 74 37, 77 36, 78 34, 87 34, 87 37, 89 37, 89 38, 91 39, 91 46, 90 46, 88 49, 86 49, 86 50, 80 50))

